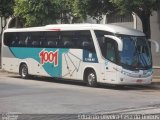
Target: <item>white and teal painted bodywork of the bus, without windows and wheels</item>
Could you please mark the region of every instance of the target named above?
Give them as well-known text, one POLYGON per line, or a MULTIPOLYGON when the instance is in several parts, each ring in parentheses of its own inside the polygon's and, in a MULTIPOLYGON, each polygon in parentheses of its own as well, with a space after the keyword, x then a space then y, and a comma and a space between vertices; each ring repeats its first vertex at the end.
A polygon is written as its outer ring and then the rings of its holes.
MULTIPOLYGON (((94 30, 109 31, 113 34, 124 33, 128 35, 144 36, 142 32, 121 27, 104 25, 49 25, 38 28, 8 29, 4 32, 36 32, 36 31, 77 31, 88 30, 94 43, 94 50, 74 48, 50 48, 50 47, 8 47, 2 41, 2 68, 9 72, 19 73, 21 63, 26 63, 31 75, 57 77, 65 79, 83 80, 85 70, 91 68, 95 71, 97 82, 132 85, 150 84, 152 72, 149 69, 143 76, 141 71, 130 75, 124 74, 122 66, 117 65, 102 56, 94 30), (77 27, 76 27, 77 26, 77 27), (79 27, 78 27, 79 26, 79 27), (45 30, 44 30, 45 29, 45 30), (119 31, 118 31, 119 30, 119 31), (134 76, 134 74, 138 75, 134 76), (147 75, 148 74, 148 75, 147 75), (140 75, 140 76, 139 76, 140 75)), ((4 35, 3 34, 3 35, 4 35)))

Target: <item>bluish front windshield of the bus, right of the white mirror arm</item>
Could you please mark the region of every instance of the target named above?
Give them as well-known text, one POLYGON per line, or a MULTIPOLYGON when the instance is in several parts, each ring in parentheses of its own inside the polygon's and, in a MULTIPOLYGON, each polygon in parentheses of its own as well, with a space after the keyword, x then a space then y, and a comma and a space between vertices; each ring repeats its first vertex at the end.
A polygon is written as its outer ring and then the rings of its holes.
POLYGON ((123 50, 119 52, 120 64, 126 69, 148 69, 152 66, 149 45, 145 37, 119 36, 123 50))

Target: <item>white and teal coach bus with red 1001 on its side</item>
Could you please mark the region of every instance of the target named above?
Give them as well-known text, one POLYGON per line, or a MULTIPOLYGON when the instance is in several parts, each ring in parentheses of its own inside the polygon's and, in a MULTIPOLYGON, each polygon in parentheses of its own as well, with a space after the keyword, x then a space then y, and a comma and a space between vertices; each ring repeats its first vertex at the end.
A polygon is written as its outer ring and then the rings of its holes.
POLYGON ((102 24, 10 28, 2 36, 2 69, 97 83, 144 85, 152 81, 152 55, 143 32, 102 24))

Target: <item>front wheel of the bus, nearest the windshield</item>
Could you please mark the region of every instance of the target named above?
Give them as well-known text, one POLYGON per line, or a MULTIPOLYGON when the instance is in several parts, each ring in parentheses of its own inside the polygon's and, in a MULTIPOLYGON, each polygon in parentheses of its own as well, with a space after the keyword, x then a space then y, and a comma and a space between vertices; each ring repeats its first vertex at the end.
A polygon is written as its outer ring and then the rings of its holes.
POLYGON ((96 73, 93 69, 90 69, 89 71, 87 71, 85 78, 86 78, 87 85, 89 87, 96 87, 97 86, 97 76, 96 76, 96 73))

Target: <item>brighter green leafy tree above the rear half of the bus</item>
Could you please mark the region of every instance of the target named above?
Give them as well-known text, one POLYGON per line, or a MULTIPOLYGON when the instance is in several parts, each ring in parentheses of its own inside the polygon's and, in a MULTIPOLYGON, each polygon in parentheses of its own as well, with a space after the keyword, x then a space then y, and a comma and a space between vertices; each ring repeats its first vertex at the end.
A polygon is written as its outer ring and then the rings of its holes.
POLYGON ((14 13, 24 20, 26 27, 57 21, 72 23, 77 22, 76 18, 79 18, 74 11, 76 1, 79 0, 16 0, 14 13))

